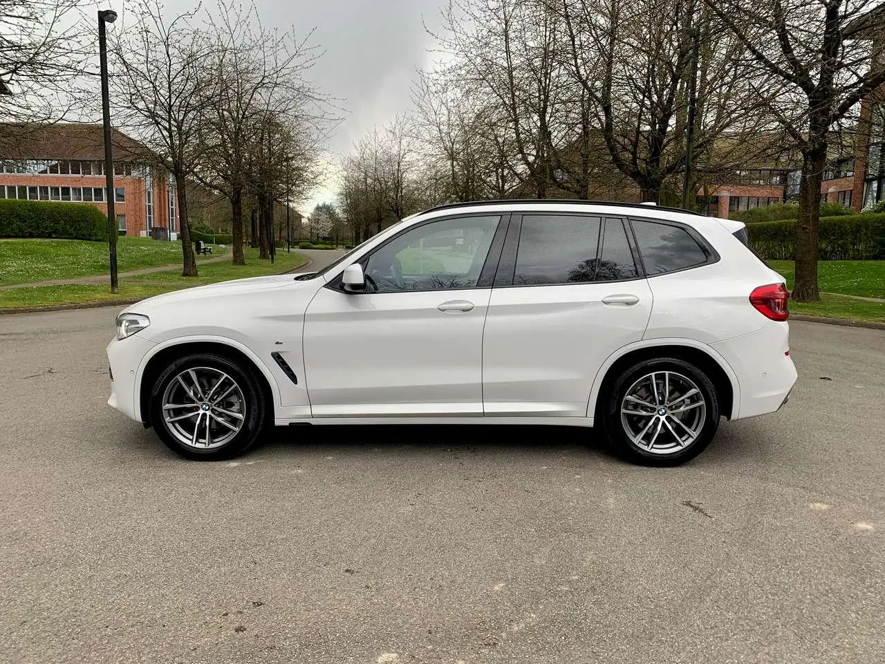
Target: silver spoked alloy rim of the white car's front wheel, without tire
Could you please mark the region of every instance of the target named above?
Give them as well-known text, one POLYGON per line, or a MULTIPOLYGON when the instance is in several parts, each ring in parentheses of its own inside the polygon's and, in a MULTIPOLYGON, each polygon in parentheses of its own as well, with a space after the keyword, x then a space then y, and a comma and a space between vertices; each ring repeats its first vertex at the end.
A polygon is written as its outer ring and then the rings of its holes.
POLYGON ((193 367, 166 385, 163 419, 181 443, 212 450, 240 432, 246 421, 246 400, 240 386, 223 371, 193 367))

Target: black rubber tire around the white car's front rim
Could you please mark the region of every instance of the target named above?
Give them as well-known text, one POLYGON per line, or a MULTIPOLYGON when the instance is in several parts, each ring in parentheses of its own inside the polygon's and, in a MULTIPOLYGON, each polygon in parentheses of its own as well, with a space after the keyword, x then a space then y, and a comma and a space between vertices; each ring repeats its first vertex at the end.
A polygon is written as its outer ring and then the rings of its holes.
MULTIPOLYGON (((229 382, 225 383, 225 388, 229 386, 229 382)), ((177 390, 177 387, 172 389, 177 390)), ((179 390, 181 395, 181 390, 179 390)), ((211 399, 210 399, 211 400, 211 399)), ((199 408, 199 405, 193 407, 199 408)), ((196 461, 219 461, 223 459, 231 459, 246 452, 252 445, 258 442, 261 434, 266 428, 268 420, 268 409, 270 405, 267 403, 265 392, 261 390, 255 375, 252 374, 250 368, 241 367, 238 363, 231 359, 227 359, 222 355, 214 353, 194 353, 185 355, 173 361, 165 370, 159 374, 157 381, 154 382, 153 390, 150 394, 150 421, 160 440, 173 452, 180 454, 185 459, 193 459, 196 461), (242 393, 242 400, 239 407, 242 409, 242 423, 240 429, 229 440, 217 447, 208 449, 200 449, 191 444, 183 443, 173 431, 173 425, 167 423, 164 417, 163 398, 170 383, 176 382, 181 372, 189 369, 197 370, 196 374, 208 373, 206 370, 214 370, 227 374, 228 380, 235 382, 242 393)), ((183 411, 182 411, 183 412, 183 411)), ((220 414, 220 413, 219 413, 220 414)), ((227 421, 238 423, 233 418, 226 417, 227 421)), ((209 415, 206 415, 209 420, 209 415)), ((197 420, 199 421, 199 420, 197 420)), ((188 420, 185 419, 185 423, 188 420)), ((229 435, 227 429, 223 429, 212 422, 213 426, 223 431, 221 437, 229 435)), ((211 439, 212 435, 206 436, 211 439)), ((197 441, 198 442, 198 441, 197 441)))

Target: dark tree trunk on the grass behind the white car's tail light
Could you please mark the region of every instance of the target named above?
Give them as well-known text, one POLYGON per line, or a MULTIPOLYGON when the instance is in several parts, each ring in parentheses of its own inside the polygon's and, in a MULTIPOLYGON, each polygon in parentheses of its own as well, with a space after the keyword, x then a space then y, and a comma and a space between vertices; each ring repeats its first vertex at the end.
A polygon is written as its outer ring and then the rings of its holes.
POLYGON ((820 183, 827 167, 827 144, 820 141, 803 153, 802 182, 799 189, 799 219, 796 222, 796 281, 791 297, 797 302, 817 302, 818 226, 820 222, 820 183))

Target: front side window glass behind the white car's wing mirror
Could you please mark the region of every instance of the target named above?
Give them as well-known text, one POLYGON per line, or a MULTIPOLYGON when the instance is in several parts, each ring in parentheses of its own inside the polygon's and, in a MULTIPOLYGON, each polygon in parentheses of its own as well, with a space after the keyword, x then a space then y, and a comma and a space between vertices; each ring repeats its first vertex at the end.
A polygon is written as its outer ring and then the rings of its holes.
POLYGON ((369 256, 368 292, 475 288, 500 220, 432 221, 397 235, 369 256))

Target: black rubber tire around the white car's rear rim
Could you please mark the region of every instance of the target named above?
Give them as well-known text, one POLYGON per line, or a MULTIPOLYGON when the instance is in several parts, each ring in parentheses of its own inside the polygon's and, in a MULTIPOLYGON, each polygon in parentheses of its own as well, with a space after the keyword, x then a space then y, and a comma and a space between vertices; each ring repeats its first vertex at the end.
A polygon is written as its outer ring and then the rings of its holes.
MULTIPOLYGON (((661 379, 658 377, 656 380, 659 385, 661 379)), ((643 383, 640 384, 642 385, 643 383)), ((650 381, 645 382, 644 384, 650 387, 650 381)), ((676 466, 689 459, 694 459, 698 454, 704 452, 707 445, 712 442, 713 436, 716 435, 716 429, 719 428, 720 408, 716 388, 713 386, 707 375, 704 374, 702 369, 684 359, 660 358, 646 359, 638 362, 632 367, 628 367, 627 370, 618 376, 612 385, 610 394, 604 398, 606 400, 602 409, 602 425, 605 436, 614 447, 615 452, 618 452, 620 456, 634 463, 640 463, 646 466, 676 466), (636 416, 628 414, 622 419, 621 405, 624 404, 624 399, 627 397, 627 391, 634 388, 637 382, 643 381, 643 378, 647 377, 649 374, 658 374, 658 372, 671 372, 671 375, 678 374, 694 383, 696 390, 698 390, 701 397, 704 399, 704 419, 702 424, 698 422, 698 427, 696 429, 698 430, 698 433, 694 440, 684 446, 681 446, 681 443, 676 441, 675 436, 673 436, 673 433, 670 433, 669 429, 662 427, 661 430, 665 437, 660 438, 661 446, 658 448, 658 452, 650 452, 650 449, 634 442, 634 436, 630 436, 627 432, 628 426, 635 426, 636 429, 640 429, 641 424, 650 421, 650 419, 655 422, 658 422, 658 420, 664 420, 662 424, 673 422, 671 428, 682 432, 683 429, 680 429, 678 422, 673 421, 673 416, 675 415, 675 417, 680 419, 683 417, 698 417, 699 419, 699 413, 701 413, 699 406, 696 408, 698 414, 678 413, 675 410, 684 405, 689 405, 690 402, 674 402, 676 405, 673 407, 673 414, 670 414, 670 411, 668 411, 667 416, 658 416, 659 411, 655 412, 655 409, 650 409, 654 414, 646 415, 644 413, 649 412, 649 409, 646 409, 644 406, 630 405, 629 408, 635 407, 637 410, 642 408, 643 414, 641 416, 639 413, 637 413, 636 416), (625 424, 625 420, 627 421, 627 424, 625 424), (668 444, 672 446, 672 449, 668 449, 668 444)), ((666 401, 666 399, 663 400, 666 401)), ((656 429, 657 425, 652 425, 652 428, 656 429)), ((650 436, 653 436, 653 433, 653 430, 650 430, 644 438, 643 436, 639 436, 639 440, 647 441, 650 439, 650 436)), ((684 433, 681 433, 681 435, 687 436, 684 433)))

